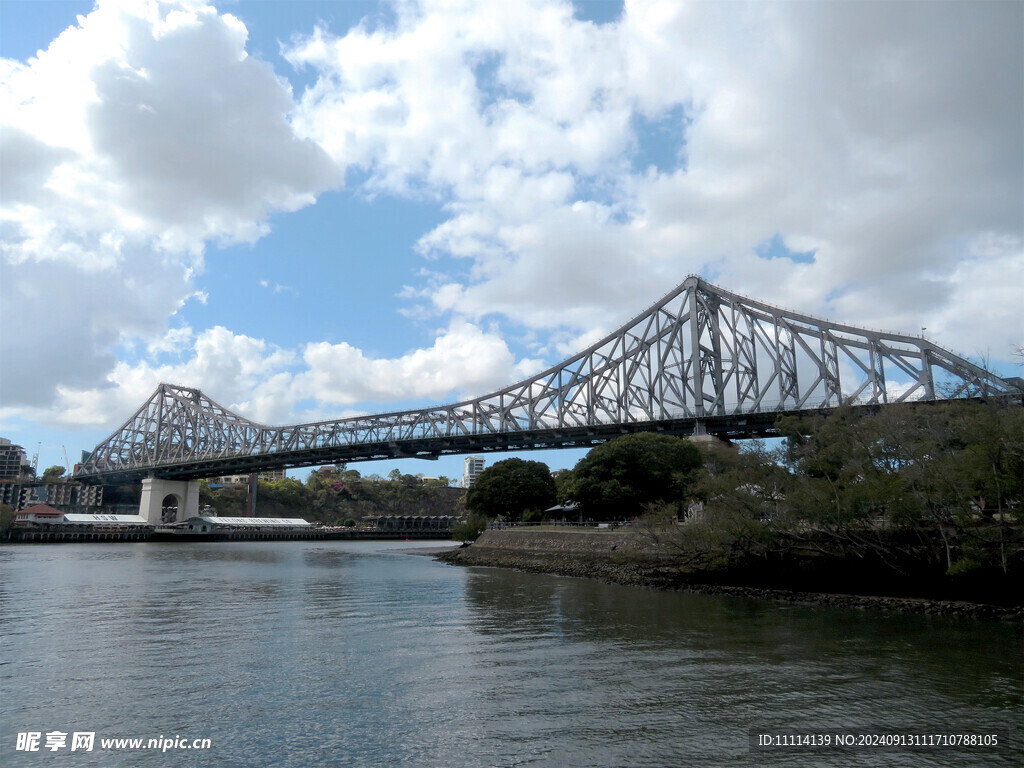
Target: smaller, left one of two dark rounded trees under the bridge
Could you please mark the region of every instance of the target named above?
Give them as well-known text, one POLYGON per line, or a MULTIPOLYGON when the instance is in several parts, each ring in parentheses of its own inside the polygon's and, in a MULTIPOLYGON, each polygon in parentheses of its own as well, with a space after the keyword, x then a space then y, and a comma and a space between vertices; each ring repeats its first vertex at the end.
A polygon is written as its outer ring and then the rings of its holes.
POLYGON ((470 512, 484 517, 501 515, 510 520, 547 509, 554 503, 555 481, 548 465, 522 459, 506 459, 487 467, 466 497, 470 512))

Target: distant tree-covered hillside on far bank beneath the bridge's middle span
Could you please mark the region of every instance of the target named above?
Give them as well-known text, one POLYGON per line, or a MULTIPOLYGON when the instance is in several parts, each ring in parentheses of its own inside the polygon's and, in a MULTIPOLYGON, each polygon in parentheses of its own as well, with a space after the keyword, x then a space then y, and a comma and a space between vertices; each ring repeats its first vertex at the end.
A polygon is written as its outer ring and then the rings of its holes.
MULTIPOLYGON (((200 503, 219 515, 243 515, 247 493, 244 485, 211 487, 204 481, 200 503)), ((464 496, 446 477, 424 480, 393 470, 385 479, 344 468, 314 470, 304 483, 291 477, 260 480, 256 492, 261 517, 300 516, 330 525, 373 515, 461 515, 464 496)))

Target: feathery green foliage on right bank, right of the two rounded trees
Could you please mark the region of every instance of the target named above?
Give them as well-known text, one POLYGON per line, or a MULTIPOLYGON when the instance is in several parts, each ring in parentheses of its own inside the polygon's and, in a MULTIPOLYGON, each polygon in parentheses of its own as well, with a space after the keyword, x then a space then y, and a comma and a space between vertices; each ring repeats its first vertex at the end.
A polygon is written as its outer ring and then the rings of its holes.
POLYGON ((1024 409, 838 409, 778 426, 779 447, 709 460, 702 512, 656 534, 688 564, 824 556, 904 575, 1024 569, 1024 409))

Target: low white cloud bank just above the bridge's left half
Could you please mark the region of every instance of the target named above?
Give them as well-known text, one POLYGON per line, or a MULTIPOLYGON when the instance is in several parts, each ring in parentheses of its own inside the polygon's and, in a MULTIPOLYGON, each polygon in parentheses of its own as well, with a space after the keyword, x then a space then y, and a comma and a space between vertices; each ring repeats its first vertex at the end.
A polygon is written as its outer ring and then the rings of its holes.
POLYGON ((284 424, 298 421, 310 398, 319 406, 306 417, 337 418, 339 407, 358 402, 483 394, 540 367, 539 360, 517 361, 501 337, 465 321, 439 331, 432 346, 395 358, 373 357, 345 343, 289 350, 220 326, 200 333, 183 327, 151 342, 141 360, 116 362, 106 386, 61 386, 52 406, 17 411, 65 427, 114 427, 111 415, 126 417, 157 384, 169 382, 201 385, 241 416, 284 424))

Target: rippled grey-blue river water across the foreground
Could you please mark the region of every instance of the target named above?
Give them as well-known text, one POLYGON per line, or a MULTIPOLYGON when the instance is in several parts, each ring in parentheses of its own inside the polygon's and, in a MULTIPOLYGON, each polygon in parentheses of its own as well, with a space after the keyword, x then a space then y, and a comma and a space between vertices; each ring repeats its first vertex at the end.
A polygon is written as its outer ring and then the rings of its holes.
POLYGON ((0 548, 0 765, 1024 762, 1019 626, 461 568, 424 546, 0 548), (759 751, 752 731, 1000 746, 759 751))

